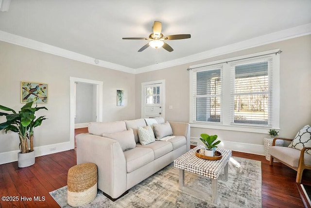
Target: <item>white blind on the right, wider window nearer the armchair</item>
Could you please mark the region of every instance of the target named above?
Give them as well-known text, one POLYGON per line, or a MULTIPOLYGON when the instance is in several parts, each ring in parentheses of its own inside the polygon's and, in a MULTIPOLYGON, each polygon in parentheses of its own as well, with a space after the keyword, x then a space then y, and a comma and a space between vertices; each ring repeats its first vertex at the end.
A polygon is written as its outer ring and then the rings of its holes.
POLYGON ((231 65, 231 124, 271 125, 272 59, 231 65))

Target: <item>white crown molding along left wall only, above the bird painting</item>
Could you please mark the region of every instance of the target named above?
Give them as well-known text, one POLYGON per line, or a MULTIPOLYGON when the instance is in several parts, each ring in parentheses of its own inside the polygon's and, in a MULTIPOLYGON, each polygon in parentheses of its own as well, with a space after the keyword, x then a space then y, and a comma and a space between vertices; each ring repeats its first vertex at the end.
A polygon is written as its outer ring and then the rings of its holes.
POLYGON ((34 49, 36 51, 50 53, 53 55, 61 56, 64 58, 69 58, 72 60, 84 62, 87 64, 92 64, 92 65, 99 66, 99 67, 114 69, 114 70, 123 71, 123 72, 127 72, 127 73, 134 73, 135 72, 135 69, 124 67, 122 65, 114 64, 114 63, 103 61, 103 60, 98 60, 98 63, 96 64, 95 60, 97 60, 97 59, 95 59, 95 58, 92 58, 92 57, 89 57, 86 55, 82 55, 80 53, 68 51, 68 50, 58 48, 55 46, 51 46, 49 44, 41 43, 39 41, 35 41, 35 40, 29 39, 26 37, 22 37, 19 35, 10 34, 10 33, 4 32, 4 31, 0 31, 0 40, 4 41, 4 42, 15 44, 18 46, 23 46, 26 48, 34 49))

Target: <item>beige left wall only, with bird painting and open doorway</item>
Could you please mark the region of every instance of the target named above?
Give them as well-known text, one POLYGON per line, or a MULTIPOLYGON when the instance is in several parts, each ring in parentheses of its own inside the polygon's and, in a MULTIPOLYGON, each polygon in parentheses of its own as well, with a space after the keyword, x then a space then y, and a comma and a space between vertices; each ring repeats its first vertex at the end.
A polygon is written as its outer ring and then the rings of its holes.
MULTIPOLYGON (((20 81, 49 84, 48 120, 35 129, 35 147, 69 141, 69 77, 103 81, 103 120, 135 117, 135 75, 85 64, 0 41, 0 104, 15 110, 20 103, 20 81), (124 106, 117 106, 117 89, 124 89, 124 106)), ((0 117, 0 122, 5 118, 0 117)), ((0 153, 18 150, 16 133, 0 131, 0 153)))

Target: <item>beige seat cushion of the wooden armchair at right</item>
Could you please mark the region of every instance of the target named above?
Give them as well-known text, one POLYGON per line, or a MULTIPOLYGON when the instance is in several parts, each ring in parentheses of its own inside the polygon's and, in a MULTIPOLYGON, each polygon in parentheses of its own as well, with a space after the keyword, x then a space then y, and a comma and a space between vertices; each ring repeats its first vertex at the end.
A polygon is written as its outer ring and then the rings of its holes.
MULTIPOLYGON (((269 148, 269 154, 294 168, 298 168, 300 150, 288 147, 272 146, 269 148)), ((304 162, 306 165, 311 165, 311 155, 305 153, 304 162)))

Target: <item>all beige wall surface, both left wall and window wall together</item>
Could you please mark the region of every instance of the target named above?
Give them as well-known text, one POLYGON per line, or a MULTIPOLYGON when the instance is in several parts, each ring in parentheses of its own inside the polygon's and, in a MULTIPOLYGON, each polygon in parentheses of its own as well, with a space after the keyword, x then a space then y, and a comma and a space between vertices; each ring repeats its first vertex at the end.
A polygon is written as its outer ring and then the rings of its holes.
MULTIPOLYGON (((280 136, 293 138, 305 124, 311 124, 311 35, 280 41, 240 52, 209 58, 167 69, 129 74, 89 65, 56 55, 0 41, 0 104, 18 110, 20 81, 49 84, 49 111, 35 131, 35 147, 69 141, 69 77, 103 81, 104 121, 140 118, 141 83, 166 80, 166 120, 189 121, 190 65, 279 48, 280 54, 280 136), (116 90, 124 89, 124 106, 116 106, 116 90), (173 105, 173 109, 169 109, 173 105)), ((42 104, 41 104, 42 105, 42 104)), ((41 106, 40 105, 40 106, 41 106)), ((0 122, 4 118, 0 117, 0 122)), ((263 143, 267 135, 237 131, 191 128, 191 137, 217 134, 226 141, 263 143)), ((18 149, 17 134, 0 132, 0 153, 18 149)))

